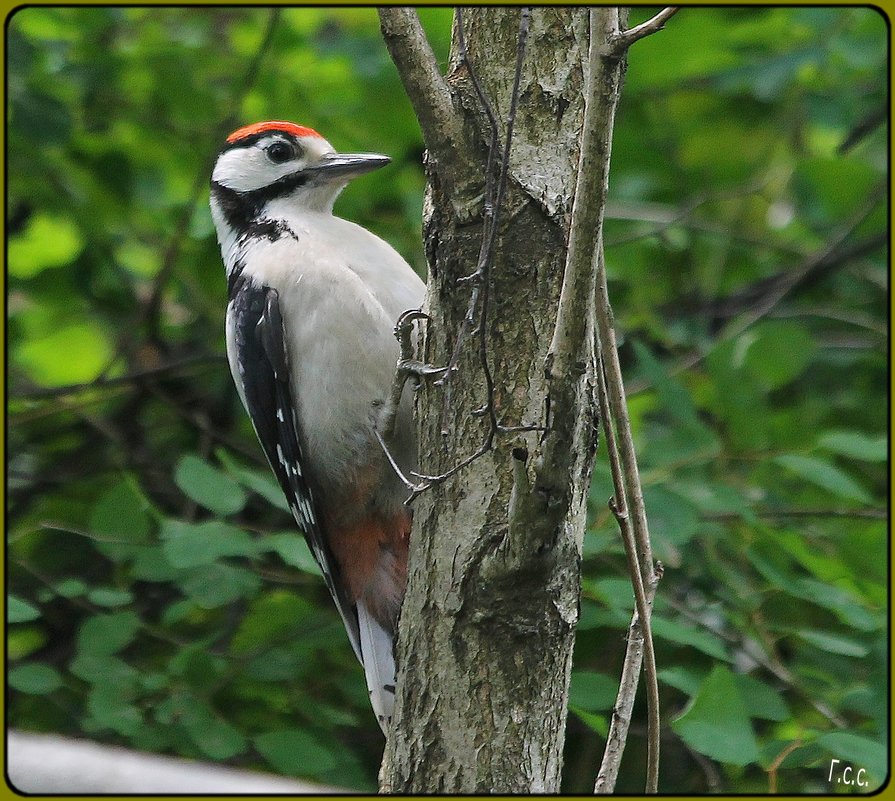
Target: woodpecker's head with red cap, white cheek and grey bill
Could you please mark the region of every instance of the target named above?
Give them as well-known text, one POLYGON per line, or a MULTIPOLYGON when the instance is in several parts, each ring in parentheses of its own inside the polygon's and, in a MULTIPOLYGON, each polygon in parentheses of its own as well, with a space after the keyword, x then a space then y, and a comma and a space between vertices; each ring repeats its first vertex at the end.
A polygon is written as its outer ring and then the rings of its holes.
POLYGON ((215 162, 212 208, 234 228, 273 202, 330 211, 352 178, 389 161, 375 153, 337 153, 315 130, 291 122, 246 125, 227 137, 215 162))

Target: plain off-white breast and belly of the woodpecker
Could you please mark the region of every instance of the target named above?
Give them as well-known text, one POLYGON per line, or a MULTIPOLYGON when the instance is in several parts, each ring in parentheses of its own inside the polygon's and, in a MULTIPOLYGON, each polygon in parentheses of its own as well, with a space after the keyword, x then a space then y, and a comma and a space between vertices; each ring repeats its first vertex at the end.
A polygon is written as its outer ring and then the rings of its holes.
MULTIPOLYGON (((246 272, 279 293, 305 453, 326 487, 378 449, 374 404, 394 379, 394 325, 419 308, 425 286, 390 245, 353 223, 316 212, 287 222, 294 237, 261 238, 242 256, 246 272)), ((410 426, 405 403, 398 427, 410 426)), ((415 459, 412 437, 396 448, 405 467, 415 459)))

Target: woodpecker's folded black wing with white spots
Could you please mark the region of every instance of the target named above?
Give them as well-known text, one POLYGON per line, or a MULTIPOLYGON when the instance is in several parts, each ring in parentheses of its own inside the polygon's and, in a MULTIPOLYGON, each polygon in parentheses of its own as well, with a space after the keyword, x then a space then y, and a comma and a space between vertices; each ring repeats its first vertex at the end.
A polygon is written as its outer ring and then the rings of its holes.
POLYGON ((357 610, 338 580, 339 566, 323 536, 314 497, 305 479, 278 293, 240 276, 231 287, 228 316, 228 336, 234 345, 231 367, 241 384, 246 410, 345 622, 351 646, 363 663, 357 610))

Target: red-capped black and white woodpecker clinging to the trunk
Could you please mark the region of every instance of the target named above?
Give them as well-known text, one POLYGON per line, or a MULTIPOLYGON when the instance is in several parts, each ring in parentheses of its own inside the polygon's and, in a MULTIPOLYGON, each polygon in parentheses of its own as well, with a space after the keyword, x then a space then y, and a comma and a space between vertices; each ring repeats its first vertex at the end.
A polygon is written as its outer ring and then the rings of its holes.
MULTIPOLYGON (((395 323, 419 308, 425 287, 390 245, 332 208, 352 178, 389 161, 337 153, 311 128, 261 122, 227 137, 211 177, 230 371, 383 732, 411 514, 377 423, 400 355, 395 323)), ((389 452, 406 474, 417 460, 407 393, 391 414, 389 452)))

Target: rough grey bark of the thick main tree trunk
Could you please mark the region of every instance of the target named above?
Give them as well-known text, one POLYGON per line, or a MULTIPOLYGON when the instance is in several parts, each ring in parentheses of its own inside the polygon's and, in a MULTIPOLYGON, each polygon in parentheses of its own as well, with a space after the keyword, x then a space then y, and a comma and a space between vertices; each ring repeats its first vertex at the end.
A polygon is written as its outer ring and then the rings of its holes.
MULTIPOLYGON (((519 9, 467 9, 469 60, 501 123, 510 104, 519 9)), ((584 115, 586 10, 533 11, 506 197, 488 296, 494 447, 414 502, 407 596, 398 641, 395 725, 381 789, 532 793, 560 787, 587 488, 596 449, 593 309, 567 374, 547 369, 584 115), (560 397, 562 396, 562 397, 560 397)), ((431 158, 424 209, 430 279, 423 357, 446 364, 469 302, 458 279, 477 265, 489 128, 458 57, 448 85, 482 179, 445 176, 431 158)), ((430 145, 431 149, 431 145, 430 145)), ((498 159, 499 164, 499 159, 498 159)), ((478 321, 478 318, 477 318, 478 321)), ((479 340, 466 341, 451 402, 417 395, 421 470, 473 453, 489 428, 479 340), (442 433, 442 430, 446 434, 442 433)))

